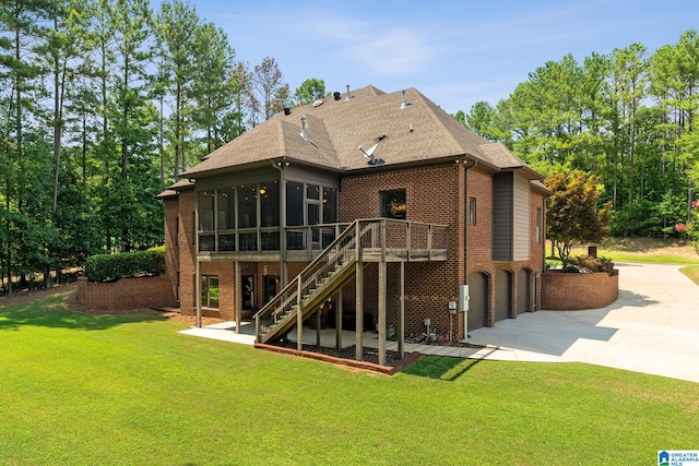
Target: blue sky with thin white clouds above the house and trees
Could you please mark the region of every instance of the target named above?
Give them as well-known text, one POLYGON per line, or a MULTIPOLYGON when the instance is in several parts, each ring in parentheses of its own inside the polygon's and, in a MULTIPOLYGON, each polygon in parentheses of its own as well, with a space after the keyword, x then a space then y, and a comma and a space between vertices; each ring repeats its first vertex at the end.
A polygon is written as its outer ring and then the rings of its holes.
MULTIPOLYGON (((652 53, 699 28, 697 0, 189 0, 250 69, 273 58, 292 93, 415 87, 450 113, 496 105, 568 53, 582 63, 640 43, 652 53)), ((154 4, 154 8, 157 8, 154 4)))

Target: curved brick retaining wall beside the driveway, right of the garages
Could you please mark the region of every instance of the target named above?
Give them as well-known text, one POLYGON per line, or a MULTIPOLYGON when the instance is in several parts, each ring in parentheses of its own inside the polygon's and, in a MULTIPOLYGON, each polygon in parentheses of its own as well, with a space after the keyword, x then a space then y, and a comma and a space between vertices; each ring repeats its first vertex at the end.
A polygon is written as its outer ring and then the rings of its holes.
POLYGON ((613 274, 542 274, 543 310, 599 309, 613 303, 618 297, 618 271, 613 274))

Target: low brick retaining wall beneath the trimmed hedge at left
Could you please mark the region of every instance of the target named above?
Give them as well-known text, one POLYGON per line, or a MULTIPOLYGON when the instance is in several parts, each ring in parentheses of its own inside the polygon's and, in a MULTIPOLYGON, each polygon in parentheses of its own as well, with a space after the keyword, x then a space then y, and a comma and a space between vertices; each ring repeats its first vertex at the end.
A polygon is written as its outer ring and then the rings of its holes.
POLYGON ((170 282, 167 277, 139 277, 91 283, 81 277, 75 299, 80 308, 98 311, 162 309, 171 306, 170 282))

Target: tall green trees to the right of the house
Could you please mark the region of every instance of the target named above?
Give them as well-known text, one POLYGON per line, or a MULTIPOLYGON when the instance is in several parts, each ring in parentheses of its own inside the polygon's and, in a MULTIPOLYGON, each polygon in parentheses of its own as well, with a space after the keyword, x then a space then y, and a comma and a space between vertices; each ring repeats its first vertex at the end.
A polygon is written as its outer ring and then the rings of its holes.
MULTIPOLYGON (((495 106, 454 117, 544 175, 584 170, 612 204, 612 234, 676 236, 699 177, 699 36, 547 61, 495 106)), ((696 205, 696 204, 695 204, 696 205)))

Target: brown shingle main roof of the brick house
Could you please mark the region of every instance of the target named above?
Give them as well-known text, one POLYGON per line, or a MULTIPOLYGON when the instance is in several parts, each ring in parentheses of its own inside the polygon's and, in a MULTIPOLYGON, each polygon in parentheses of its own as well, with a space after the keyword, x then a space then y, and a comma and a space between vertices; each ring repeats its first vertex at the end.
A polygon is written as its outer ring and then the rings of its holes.
POLYGON ((279 113, 182 174, 206 176, 222 169, 285 158, 334 170, 366 169, 359 150, 378 144, 374 156, 383 166, 448 157, 470 157, 495 169, 526 167, 501 144, 493 144, 467 130, 415 88, 386 94, 367 86, 340 99, 324 98, 320 105, 295 107, 279 113), (307 140, 301 138, 306 117, 307 140), (382 138, 381 138, 382 136, 382 138))

